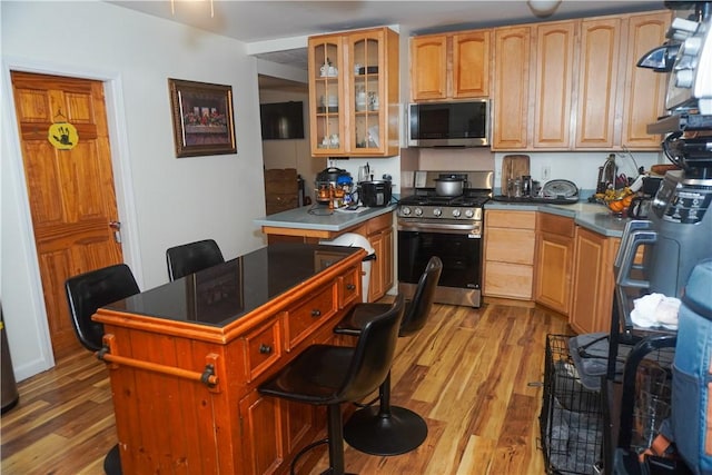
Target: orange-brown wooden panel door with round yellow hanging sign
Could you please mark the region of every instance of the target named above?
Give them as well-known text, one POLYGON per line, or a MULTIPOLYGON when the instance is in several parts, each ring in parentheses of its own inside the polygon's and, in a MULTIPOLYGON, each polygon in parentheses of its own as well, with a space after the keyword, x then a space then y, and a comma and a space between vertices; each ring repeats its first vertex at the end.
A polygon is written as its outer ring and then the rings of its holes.
POLYGON ((123 261, 110 226, 118 214, 103 87, 99 81, 12 71, 12 89, 44 306, 59 359, 80 347, 65 280, 123 261), (73 148, 50 144, 48 131, 57 122, 77 129, 73 148))

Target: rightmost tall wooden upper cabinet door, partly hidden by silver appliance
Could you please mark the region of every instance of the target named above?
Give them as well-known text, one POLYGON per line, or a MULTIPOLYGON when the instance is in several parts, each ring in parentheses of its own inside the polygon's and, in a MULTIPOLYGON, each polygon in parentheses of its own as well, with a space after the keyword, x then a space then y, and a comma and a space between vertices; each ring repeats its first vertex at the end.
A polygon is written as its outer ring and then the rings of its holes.
POLYGON ((660 136, 649 135, 646 126, 665 110, 668 75, 637 68, 635 63, 647 51, 665 41, 670 23, 670 12, 633 14, 629 19, 621 142, 630 149, 660 150, 660 136))

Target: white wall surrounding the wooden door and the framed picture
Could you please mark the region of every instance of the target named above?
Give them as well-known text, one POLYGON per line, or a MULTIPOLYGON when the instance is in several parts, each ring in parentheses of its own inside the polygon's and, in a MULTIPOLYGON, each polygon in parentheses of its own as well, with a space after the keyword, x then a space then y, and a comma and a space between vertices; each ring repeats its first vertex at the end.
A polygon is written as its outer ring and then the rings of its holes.
MULTIPOLYGON (((167 2, 168 3, 168 2, 167 2)), ((50 367, 9 70, 106 80, 125 258, 141 288, 168 280, 169 246, 215 238, 226 258, 263 246, 256 59, 245 44, 106 2, 0 2, 0 298, 18 379, 50 367), (176 159, 168 78, 230 85, 237 155, 176 159)), ((167 7, 168 8, 168 7, 167 7)))

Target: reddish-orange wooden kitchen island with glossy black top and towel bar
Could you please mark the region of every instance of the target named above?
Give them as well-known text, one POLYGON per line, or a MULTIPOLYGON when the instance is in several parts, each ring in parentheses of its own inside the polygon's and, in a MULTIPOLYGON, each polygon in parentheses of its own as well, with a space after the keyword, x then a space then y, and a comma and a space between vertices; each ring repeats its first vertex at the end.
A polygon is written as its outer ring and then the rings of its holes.
POLYGON ((123 473, 287 473, 324 419, 257 387, 336 342, 365 255, 267 246, 100 308, 123 473))

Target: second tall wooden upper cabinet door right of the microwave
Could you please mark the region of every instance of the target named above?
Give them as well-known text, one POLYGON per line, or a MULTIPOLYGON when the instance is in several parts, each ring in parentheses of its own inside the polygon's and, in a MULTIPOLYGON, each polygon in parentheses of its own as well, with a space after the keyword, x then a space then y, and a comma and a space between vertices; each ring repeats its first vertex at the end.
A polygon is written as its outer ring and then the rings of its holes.
POLYGON ((571 113, 574 80, 574 42, 578 22, 563 21, 536 27, 534 106, 535 148, 571 147, 574 116, 571 113))

